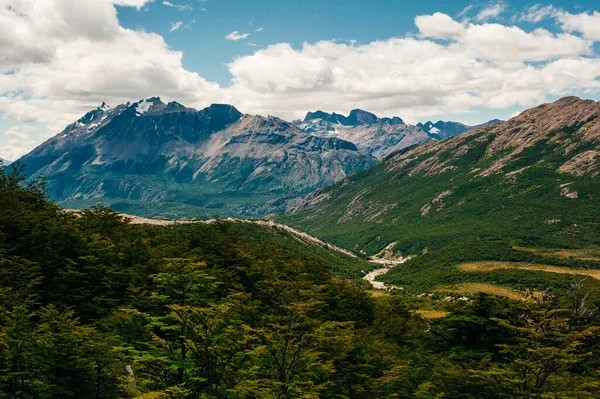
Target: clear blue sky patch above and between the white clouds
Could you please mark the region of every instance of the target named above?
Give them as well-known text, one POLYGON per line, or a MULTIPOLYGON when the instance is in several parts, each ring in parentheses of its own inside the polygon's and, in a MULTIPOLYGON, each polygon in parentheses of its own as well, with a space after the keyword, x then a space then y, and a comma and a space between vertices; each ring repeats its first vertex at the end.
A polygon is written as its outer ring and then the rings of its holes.
MULTIPOLYGON (((458 16, 467 7, 472 7, 471 14, 476 14, 481 8, 496 4, 462 0, 171 0, 171 4, 191 8, 179 11, 162 2, 155 0, 142 11, 119 7, 119 19, 128 28, 161 34, 173 49, 184 52, 183 64, 187 69, 222 85, 229 84, 231 79, 225 64, 236 56, 252 54, 273 43, 286 42, 294 47, 300 47, 303 42, 333 39, 369 43, 417 34, 414 23, 417 15, 442 12, 458 16), (178 21, 182 21, 187 28, 169 32, 171 24, 178 21), (255 32, 259 28, 263 30, 255 32), (224 39, 236 30, 249 33, 250 36, 240 41, 224 39)), ((507 24, 512 24, 513 15, 533 4, 552 4, 573 13, 600 10, 598 2, 594 0, 576 3, 565 0, 510 1, 505 4, 506 9, 497 22, 507 24)), ((549 19, 539 24, 516 21, 516 25, 525 29, 543 27, 556 30, 554 22, 549 19)), ((597 43, 596 50, 599 46, 597 43)))

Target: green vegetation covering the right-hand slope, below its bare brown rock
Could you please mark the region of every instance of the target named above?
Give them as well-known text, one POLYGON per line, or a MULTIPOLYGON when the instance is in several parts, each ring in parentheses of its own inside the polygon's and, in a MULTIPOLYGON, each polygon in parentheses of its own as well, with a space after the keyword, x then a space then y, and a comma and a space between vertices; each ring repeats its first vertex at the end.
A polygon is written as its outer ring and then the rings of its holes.
MULTIPOLYGON (((472 151, 482 152, 478 146, 472 151)), ((450 161, 457 170, 434 176, 411 176, 410 166, 391 170, 393 158, 389 159, 326 188, 331 198, 327 202, 278 220, 369 254, 395 241, 395 249, 405 254, 457 241, 503 239, 557 248, 599 243, 598 179, 554 172, 554 165, 532 166, 514 178, 476 177, 491 163, 488 159, 451 156, 442 154, 439 162, 450 161), (561 195, 563 184, 578 198, 561 195)), ((531 155, 528 162, 536 159, 531 155)), ((520 167, 511 165, 507 173, 520 167)))

